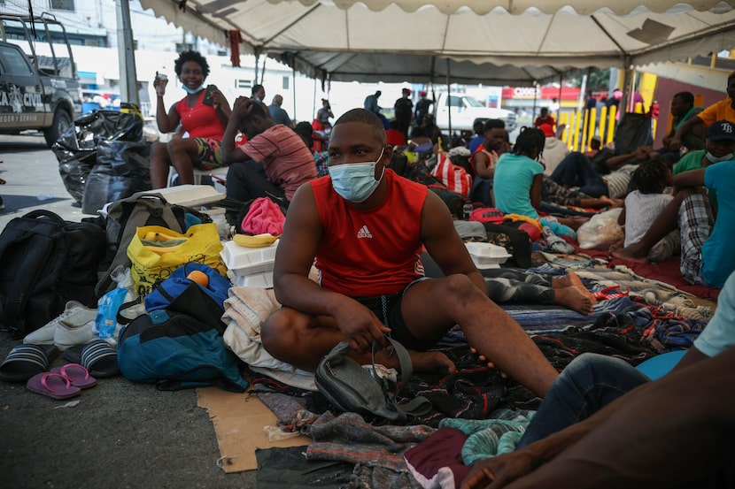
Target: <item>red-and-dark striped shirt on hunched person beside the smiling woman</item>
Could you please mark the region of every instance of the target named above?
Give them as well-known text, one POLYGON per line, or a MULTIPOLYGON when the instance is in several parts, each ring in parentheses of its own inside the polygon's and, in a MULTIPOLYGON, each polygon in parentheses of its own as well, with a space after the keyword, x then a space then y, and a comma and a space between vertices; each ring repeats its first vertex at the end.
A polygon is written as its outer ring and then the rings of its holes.
POLYGON ((268 127, 240 149, 263 163, 267 179, 282 187, 289 201, 302 183, 317 177, 311 150, 298 134, 282 124, 268 127))

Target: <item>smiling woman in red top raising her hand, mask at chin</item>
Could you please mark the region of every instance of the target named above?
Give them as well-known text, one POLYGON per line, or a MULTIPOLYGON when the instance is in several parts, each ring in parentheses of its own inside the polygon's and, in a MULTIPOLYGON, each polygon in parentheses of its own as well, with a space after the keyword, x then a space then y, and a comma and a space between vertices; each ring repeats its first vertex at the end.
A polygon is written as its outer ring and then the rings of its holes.
POLYGON ((209 64, 197 51, 182 52, 175 61, 174 72, 187 95, 171 105, 168 113, 163 102, 168 80, 158 72, 153 80, 159 131, 170 133, 181 125, 171 141, 157 142, 151 149, 153 188, 166 187, 169 166, 174 167, 182 184, 194 183, 194 168, 209 170, 222 166, 220 145, 230 114, 227 99, 216 88, 205 93, 209 64), (189 133, 189 137, 182 137, 184 133, 189 133))

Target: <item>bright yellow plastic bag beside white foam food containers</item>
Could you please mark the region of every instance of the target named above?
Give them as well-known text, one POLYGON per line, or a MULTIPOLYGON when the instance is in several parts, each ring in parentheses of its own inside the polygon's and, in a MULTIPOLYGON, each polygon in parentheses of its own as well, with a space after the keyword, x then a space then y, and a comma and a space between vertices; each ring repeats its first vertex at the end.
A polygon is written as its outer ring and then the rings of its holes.
POLYGON ((209 265, 226 277, 221 250, 214 223, 192 225, 183 234, 159 225, 139 227, 128 245, 135 292, 148 294, 157 280, 167 279, 182 264, 191 262, 209 265))

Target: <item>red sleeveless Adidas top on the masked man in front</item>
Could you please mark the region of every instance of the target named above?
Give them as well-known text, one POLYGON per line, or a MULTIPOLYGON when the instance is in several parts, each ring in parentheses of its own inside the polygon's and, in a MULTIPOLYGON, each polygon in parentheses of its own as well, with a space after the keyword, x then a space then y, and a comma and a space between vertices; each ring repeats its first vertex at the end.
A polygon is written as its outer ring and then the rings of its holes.
POLYGON ((395 294, 423 276, 421 212, 428 187, 387 168, 385 179, 385 201, 374 210, 350 207, 329 176, 309 182, 323 232, 315 266, 325 290, 395 294))

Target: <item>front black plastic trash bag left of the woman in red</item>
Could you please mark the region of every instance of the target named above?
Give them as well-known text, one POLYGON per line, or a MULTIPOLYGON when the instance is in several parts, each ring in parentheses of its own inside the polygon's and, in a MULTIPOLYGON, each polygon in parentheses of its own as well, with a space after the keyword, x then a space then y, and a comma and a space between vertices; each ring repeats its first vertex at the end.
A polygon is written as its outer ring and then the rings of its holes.
POLYGON ((95 214, 105 203, 151 190, 151 143, 100 141, 97 164, 89 173, 81 211, 95 214))

